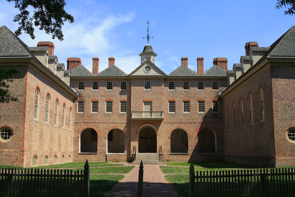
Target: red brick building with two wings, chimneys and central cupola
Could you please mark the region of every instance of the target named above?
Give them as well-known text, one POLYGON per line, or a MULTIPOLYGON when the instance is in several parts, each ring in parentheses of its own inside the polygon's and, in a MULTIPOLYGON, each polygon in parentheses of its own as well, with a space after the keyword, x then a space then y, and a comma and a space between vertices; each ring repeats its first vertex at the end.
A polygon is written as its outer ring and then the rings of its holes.
POLYGON ((163 161, 294 164, 295 27, 270 47, 246 43, 227 70, 214 58, 204 73, 188 58, 170 74, 148 44, 130 74, 115 66, 92 73, 80 58, 67 70, 54 44, 28 47, 0 27, 0 66, 21 71, 9 88, 17 102, 0 104, 0 163, 23 167, 71 161, 132 161, 159 153, 163 161), (21 117, 21 118, 20 118, 21 117))

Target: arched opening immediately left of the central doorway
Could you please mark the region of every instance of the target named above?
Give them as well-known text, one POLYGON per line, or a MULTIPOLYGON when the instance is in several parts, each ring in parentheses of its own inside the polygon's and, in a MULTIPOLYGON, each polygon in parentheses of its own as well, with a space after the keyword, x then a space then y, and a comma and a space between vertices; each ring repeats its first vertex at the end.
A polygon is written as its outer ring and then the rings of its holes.
POLYGON ((125 135, 121 129, 112 129, 107 137, 107 153, 124 153, 125 135))

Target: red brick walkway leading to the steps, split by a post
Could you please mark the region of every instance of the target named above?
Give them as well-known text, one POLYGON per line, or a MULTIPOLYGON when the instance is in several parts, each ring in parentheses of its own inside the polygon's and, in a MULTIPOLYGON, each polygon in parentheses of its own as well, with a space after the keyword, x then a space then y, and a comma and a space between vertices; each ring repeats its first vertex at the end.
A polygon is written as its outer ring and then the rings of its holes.
MULTIPOLYGON (((143 165, 143 194, 150 197, 176 197, 171 186, 164 179, 158 164, 143 165)), ((139 165, 128 173, 124 179, 110 191, 107 197, 137 197, 139 165)))

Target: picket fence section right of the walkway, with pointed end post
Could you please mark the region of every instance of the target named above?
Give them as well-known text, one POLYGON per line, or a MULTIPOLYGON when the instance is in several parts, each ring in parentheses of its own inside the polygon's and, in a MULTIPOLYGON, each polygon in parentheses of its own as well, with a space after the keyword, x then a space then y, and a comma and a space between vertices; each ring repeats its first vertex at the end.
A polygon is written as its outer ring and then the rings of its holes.
POLYGON ((247 169, 189 172, 190 197, 295 196, 294 169, 247 169))

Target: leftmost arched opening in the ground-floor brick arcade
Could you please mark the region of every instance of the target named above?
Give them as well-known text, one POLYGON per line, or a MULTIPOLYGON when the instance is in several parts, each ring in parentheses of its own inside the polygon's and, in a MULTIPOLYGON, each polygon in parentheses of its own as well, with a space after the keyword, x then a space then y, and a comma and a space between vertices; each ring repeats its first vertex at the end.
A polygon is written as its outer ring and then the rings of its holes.
POLYGON ((87 128, 80 133, 80 153, 97 153, 97 133, 87 128))

